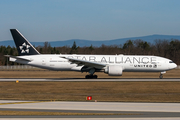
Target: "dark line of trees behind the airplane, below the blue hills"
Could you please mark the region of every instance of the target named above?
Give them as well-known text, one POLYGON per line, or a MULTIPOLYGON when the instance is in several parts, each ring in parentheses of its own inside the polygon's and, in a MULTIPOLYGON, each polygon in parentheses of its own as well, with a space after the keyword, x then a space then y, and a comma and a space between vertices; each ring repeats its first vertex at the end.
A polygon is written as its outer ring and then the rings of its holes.
MULTIPOLYGON (((79 47, 76 42, 70 46, 51 47, 48 42, 44 46, 35 47, 41 54, 102 54, 102 55, 156 55, 173 60, 180 64, 180 41, 172 40, 155 40, 153 44, 143 40, 128 40, 123 45, 106 46, 102 43, 100 47, 88 46, 79 47)), ((16 48, 0 46, 0 65, 16 65, 17 63, 9 62, 4 55, 18 55, 16 48)))

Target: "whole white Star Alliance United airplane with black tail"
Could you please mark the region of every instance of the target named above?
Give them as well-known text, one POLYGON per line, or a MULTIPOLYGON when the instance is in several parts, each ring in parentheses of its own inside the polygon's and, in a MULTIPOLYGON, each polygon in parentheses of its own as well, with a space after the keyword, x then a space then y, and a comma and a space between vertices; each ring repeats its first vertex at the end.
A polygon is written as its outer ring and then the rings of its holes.
POLYGON ((166 71, 177 67, 170 59, 149 55, 40 54, 17 29, 10 31, 19 54, 5 55, 10 61, 55 71, 89 72, 86 79, 98 78, 95 72, 109 76, 122 76, 123 72, 160 72, 162 79, 166 71))

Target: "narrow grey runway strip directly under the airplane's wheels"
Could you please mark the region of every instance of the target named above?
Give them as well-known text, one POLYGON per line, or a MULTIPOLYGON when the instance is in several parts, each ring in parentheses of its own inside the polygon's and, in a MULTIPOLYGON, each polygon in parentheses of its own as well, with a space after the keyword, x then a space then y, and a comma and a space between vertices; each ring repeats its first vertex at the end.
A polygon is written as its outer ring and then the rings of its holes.
POLYGON ((164 79, 159 79, 159 78, 114 78, 114 79, 108 79, 108 78, 100 78, 100 79, 82 79, 82 78, 49 78, 49 79, 43 79, 43 78, 37 78, 37 79, 27 79, 27 78, 0 78, 0 82, 7 82, 7 81, 11 81, 11 82, 14 82, 14 81, 38 81, 38 82, 41 82, 41 81, 67 81, 67 82, 70 82, 70 81, 100 81, 100 82, 103 82, 103 81, 112 81, 112 82, 116 82, 116 81, 180 81, 180 78, 164 78, 164 79))

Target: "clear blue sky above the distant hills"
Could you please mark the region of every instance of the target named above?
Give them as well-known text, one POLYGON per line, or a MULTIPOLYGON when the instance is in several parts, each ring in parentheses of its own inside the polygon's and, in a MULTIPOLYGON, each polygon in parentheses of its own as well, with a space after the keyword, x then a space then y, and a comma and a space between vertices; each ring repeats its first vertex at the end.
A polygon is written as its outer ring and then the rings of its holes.
POLYGON ((0 41, 180 35, 180 0, 0 0, 0 41))

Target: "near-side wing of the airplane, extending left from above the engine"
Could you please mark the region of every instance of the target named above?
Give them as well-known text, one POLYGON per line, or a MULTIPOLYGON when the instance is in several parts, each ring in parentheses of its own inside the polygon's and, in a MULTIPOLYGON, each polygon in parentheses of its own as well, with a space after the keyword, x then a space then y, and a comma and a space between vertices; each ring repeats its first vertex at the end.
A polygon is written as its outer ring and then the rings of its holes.
POLYGON ((68 57, 61 57, 61 58, 67 59, 71 62, 71 64, 77 64, 78 66, 84 65, 84 66, 93 67, 93 68, 103 68, 106 66, 106 64, 97 63, 97 62, 85 61, 85 60, 68 58, 68 57))

